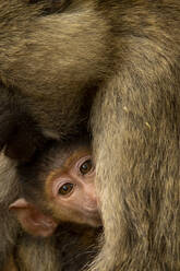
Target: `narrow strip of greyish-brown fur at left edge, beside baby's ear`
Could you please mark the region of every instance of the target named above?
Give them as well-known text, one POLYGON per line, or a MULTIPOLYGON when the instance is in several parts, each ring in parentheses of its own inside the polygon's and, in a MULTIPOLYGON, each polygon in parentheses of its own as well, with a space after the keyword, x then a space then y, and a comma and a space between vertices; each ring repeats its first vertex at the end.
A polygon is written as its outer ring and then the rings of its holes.
POLYGON ((14 241, 19 234, 20 227, 9 212, 9 204, 11 204, 20 193, 20 185, 14 170, 15 163, 8 157, 0 154, 0 270, 3 269, 4 263, 13 251, 14 241))

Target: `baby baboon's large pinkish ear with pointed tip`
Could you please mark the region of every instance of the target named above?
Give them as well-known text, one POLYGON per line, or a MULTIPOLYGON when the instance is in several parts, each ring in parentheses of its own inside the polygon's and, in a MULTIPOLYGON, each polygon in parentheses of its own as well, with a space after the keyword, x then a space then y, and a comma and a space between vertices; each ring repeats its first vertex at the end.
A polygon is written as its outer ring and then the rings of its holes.
POLYGON ((47 237, 57 227, 57 223, 50 216, 43 214, 23 198, 14 201, 9 209, 15 213, 22 227, 31 235, 47 237))

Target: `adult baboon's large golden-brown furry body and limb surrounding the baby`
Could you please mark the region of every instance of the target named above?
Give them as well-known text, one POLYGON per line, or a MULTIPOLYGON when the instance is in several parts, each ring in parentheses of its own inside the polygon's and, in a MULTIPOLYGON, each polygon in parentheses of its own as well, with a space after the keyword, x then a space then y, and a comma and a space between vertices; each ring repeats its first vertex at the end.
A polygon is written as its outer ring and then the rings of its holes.
POLYGON ((0 3, 1 145, 31 157, 89 119, 105 226, 89 270, 180 270, 179 0, 35 2, 0 3))

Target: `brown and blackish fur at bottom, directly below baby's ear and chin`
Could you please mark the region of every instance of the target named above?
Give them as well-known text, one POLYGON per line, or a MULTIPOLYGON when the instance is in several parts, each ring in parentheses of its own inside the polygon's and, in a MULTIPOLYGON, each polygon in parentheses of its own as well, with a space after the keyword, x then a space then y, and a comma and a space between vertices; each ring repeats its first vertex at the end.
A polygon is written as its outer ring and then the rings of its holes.
POLYGON ((99 233, 97 228, 62 224, 51 238, 23 235, 14 249, 15 264, 20 271, 79 271, 97 254, 99 233))

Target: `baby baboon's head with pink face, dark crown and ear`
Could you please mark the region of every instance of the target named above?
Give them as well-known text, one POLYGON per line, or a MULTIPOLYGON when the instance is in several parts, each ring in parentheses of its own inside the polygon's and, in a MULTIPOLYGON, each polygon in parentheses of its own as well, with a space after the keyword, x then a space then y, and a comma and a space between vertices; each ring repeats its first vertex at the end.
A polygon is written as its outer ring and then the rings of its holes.
POLYGON ((95 166, 86 141, 53 144, 32 164, 19 167, 23 197, 10 205, 22 227, 49 236, 60 222, 101 225, 95 191, 95 166))

